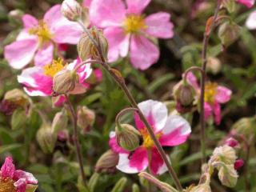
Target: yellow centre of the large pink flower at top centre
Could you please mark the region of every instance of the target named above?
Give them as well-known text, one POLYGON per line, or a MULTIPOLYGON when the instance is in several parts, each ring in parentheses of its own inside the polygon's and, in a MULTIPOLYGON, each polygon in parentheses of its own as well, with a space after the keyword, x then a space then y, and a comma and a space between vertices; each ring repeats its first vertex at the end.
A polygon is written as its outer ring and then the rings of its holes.
POLYGON ((141 15, 129 14, 124 22, 124 28, 127 34, 138 33, 146 29, 146 23, 141 15))

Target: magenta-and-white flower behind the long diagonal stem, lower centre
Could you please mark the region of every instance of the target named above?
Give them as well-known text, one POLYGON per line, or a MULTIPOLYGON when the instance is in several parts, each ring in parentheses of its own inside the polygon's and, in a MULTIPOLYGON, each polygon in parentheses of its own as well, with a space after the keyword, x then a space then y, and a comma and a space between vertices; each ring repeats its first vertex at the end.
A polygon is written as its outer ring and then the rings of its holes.
MULTIPOLYGON (((138 104, 150 125, 154 127, 154 134, 162 146, 178 146, 189 137, 191 128, 189 123, 178 115, 168 116, 167 108, 162 102, 147 100, 138 104)), ((162 161, 154 142, 146 130, 146 126, 134 115, 137 129, 142 134, 143 142, 133 152, 123 150, 116 142, 115 133, 110 133, 110 147, 119 154, 118 170, 128 174, 146 170, 149 166, 153 174, 166 172, 166 164, 162 161)))

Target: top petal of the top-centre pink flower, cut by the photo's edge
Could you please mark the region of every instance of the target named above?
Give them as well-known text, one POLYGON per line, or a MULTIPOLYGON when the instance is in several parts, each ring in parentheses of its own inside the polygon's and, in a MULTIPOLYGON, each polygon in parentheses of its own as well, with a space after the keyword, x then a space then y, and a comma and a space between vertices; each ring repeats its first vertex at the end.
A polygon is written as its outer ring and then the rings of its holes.
POLYGON ((141 14, 150 2, 151 0, 126 0, 126 4, 128 6, 127 13, 141 14))

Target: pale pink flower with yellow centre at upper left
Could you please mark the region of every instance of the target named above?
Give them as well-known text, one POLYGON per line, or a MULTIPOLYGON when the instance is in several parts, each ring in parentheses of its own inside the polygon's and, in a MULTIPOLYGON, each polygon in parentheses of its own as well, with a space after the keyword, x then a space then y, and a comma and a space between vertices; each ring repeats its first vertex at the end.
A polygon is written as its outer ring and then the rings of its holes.
POLYGON ((22 69, 33 59, 36 66, 43 66, 53 59, 57 44, 76 44, 82 28, 61 14, 61 6, 50 8, 42 20, 30 14, 22 17, 24 28, 15 42, 5 47, 4 56, 14 69, 22 69))

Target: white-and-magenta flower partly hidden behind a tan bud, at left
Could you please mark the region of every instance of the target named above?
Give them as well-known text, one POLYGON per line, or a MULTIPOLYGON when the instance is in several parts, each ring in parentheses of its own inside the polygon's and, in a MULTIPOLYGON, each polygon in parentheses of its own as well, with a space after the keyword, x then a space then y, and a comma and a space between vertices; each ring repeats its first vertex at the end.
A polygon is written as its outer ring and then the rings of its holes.
MULTIPOLYGON (((65 66, 62 59, 54 60, 46 66, 34 66, 22 70, 22 74, 18 75, 18 82, 24 85, 24 90, 30 96, 50 96, 53 93, 53 77, 58 71, 66 68, 74 70, 78 66, 80 60, 74 60, 65 66)), ((80 67, 77 71, 79 83, 70 94, 82 94, 87 90, 87 85, 84 82, 90 76, 92 69, 90 64, 80 67)))

